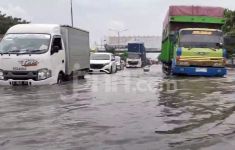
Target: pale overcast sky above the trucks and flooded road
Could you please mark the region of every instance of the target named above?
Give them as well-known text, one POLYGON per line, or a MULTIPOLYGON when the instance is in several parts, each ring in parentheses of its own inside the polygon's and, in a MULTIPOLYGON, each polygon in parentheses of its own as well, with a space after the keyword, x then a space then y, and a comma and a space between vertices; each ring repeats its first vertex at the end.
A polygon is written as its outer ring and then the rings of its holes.
MULTIPOLYGON (((70 0, 0 0, 0 10, 32 23, 70 24, 70 0)), ((170 5, 221 6, 235 10, 233 0, 73 0, 74 25, 88 30, 91 42, 116 35, 161 35, 170 5)))

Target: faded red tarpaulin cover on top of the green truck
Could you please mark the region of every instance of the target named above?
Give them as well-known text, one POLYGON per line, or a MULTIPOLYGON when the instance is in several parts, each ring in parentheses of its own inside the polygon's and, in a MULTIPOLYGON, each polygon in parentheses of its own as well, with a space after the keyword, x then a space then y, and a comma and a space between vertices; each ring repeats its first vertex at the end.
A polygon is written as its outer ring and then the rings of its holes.
POLYGON ((170 16, 210 16, 223 18, 224 8, 202 6, 170 6, 164 21, 164 27, 168 24, 170 16))

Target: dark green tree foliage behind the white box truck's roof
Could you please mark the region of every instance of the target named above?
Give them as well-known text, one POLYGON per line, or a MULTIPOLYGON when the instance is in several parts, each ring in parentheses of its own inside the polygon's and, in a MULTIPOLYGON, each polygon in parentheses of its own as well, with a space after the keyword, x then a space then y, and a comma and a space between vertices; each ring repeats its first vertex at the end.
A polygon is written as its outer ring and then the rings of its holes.
POLYGON ((16 25, 16 24, 26 24, 29 23, 26 20, 22 20, 21 18, 14 18, 12 16, 7 16, 6 14, 2 14, 0 11, 0 34, 5 34, 7 30, 16 25))

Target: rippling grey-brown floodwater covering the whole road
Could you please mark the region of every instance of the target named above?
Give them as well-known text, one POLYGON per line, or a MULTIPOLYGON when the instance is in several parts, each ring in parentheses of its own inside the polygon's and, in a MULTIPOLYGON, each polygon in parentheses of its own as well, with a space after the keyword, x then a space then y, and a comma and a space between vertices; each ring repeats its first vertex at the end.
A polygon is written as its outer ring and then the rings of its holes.
POLYGON ((160 68, 0 87, 0 149, 234 149, 235 71, 166 78, 160 68))

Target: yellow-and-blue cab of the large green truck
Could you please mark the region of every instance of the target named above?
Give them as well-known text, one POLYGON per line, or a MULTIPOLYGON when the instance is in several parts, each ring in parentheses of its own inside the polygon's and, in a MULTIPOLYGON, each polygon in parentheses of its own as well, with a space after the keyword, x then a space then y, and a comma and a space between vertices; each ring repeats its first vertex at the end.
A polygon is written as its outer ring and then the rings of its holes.
POLYGON ((176 34, 172 73, 224 76, 226 50, 223 32, 217 29, 185 28, 176 34))

